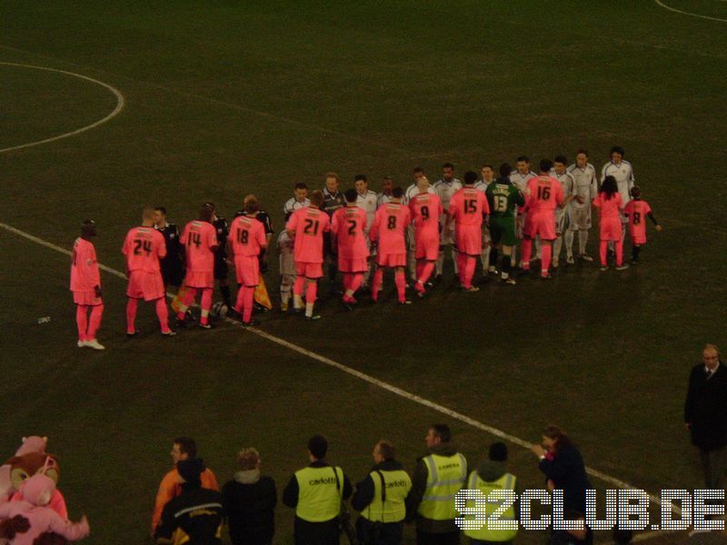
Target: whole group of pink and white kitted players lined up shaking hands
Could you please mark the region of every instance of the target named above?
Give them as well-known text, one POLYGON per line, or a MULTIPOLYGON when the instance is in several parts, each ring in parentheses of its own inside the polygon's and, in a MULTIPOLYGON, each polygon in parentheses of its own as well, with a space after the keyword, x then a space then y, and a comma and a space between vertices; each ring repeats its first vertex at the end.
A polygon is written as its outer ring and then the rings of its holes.
MULTIPOLYGON (((623 150, 612 148, 611 161, 603 166, 601 183, 588 154, 579 150, 576 162, 567 165, 563 155, 554 161, 543 159, 539 173, 530 169, 525 156, 518 157, 513 171, 508 163, 499 168, 484 164, 481 177, 472 171, 463 180, 454 177, 451 163, 443 165, 443 176, 433 185, 422 168, 413 169, 413 183, 404 191, 383 179, 382 193, 368 189, 368 180, 357 175, 354 188, 339 190, 335 173, 325 177, 323 191, 310 198, 304 183, 297 183, 294 197, 284 204, 285 229, 277 239, 281 274, 281 308, 307 320, 318 320, 314 312, 318 280, 327 264, 329 289, 342 273, 341 301, 349 310, 356 295, 369 292, 377 302, 383 286, 383 272, 393 269, 397 299, 411 304, 407 287, 423 297, 443 274, 445 249, 451 247, 453 268, 463 292, 477 292, 473 276, 481 261, 486 276, 499 276, 515 284, 518 241, 520 272, 528 272, 533 260, 540 260, 540 278, 551 278, 565 243, 566 263, 575 263, 573 241, 578 233, 579 259, 591 262, 586 253, 591 228, 591 206, 600 212, 600 262, 608 268, 611 251, 617 270, 623 261, 626 226, 632 240, 633 264, 638 263, 646 243, 646 217, 657 230, 661 225, 651 207, 641 199, 634 185, 632 166, 623 161, 623 150), (407 286, 406 270, 410 276, 407 286), (369 283, 369 281, 371 281, 369 283)), ((228 316, 244 326, 254 325, 254 307, 262 272, 267 269, 267 250, 273 237, 270 217, 260 209, 254 195, 244 199, 244 210, 229 224, 217 217, 213 203, 204 203, 197 220, 187 223, 180 234, 166 223, 163 207, 145 208, 142 224, 126 235, 122 252, 126 259, 126 334, 134 337, 139 301, 153 302, 161 332, 172 336, 166 303, 168 285, 180 286, 174 298, 177 327, 191 320, 189 307, 200 299, 199 327, 209 329, 213 312, 213 290, 218 282, 228 316), (227 283, 228 266, 233 266, 239 285, 234 304, 227 283)), ((76 304, 78 346, 104 350, 96 339, 103 301, 98 263, 91 239, 95 223, 86 220, 76 239, 71 266, 71 290, 76 304)), ((266 290, 264 290, 265 298, 266 290)))

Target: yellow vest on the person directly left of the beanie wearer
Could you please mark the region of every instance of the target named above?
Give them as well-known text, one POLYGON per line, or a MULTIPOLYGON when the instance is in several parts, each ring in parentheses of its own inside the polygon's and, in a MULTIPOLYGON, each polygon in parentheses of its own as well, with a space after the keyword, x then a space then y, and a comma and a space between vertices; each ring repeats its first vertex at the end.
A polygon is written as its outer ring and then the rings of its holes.
POLYGON ((459 452, 452 456, 430 454, 423 458, 428 475, 419 513, 430 520, 453 520, 457 517, 454 496, 467 480, 467 461, 459 452))

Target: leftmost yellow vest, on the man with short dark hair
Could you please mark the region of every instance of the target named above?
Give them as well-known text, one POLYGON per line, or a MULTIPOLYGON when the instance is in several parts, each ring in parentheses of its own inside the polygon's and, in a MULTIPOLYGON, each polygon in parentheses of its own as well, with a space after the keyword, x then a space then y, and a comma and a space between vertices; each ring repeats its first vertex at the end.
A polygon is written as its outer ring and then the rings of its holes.
POLYGON ((295 471, 298 481, 298 505, 295 515, 308 522, 324 522, 334 519, 341 512, 341 495, 344 493, 344 470, 333 466, 304 468, 295 471), (339 487, 342 490, 339 490, 339 487))

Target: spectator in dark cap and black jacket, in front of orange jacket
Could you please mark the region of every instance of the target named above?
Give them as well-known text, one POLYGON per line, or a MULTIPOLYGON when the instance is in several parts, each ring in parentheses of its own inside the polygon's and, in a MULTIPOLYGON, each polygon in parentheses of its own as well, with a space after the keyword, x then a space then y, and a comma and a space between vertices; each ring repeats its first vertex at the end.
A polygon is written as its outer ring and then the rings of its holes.
POLYGON ((202 488, 204 462, 186 458, 177 462, 176 468, 182 492, 164 506, 162 521, 154 534, 156 542, 220 545, 224 521, 222 494, 202 488))

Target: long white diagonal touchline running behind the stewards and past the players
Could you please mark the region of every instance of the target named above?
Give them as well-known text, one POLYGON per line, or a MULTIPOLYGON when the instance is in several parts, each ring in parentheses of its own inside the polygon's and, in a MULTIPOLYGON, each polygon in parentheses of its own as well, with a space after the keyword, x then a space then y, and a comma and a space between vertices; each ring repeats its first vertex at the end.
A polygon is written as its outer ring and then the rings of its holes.
MULTIPOLYGON (((6 231, 9 231, 10 233, 15 233, 18 236, 22 236, 29 241, 32 241, 34 243, 45 246, 46 248, 50 248, 51 250, 55 250, 55 252, 65 253, 65 255, 73 255, 72 252, 70 252, 69 250, 66 250, 65 248, 62 248, 61 246, 57 246, 54 243, 49 243, 49 242, 43 240, 42 238, 38 238, 35 235, 32 235, 30 233, 25 233, 25 231, 21 231, 20 229, 15 229, 15 227, 13 227, 12 225, 8 225, 7 223, 0 223, 0 227, 5 229, 6 231)), ((99 263, 98 266, 100 269, 104 270, 105 272, 110 272, 114 276, 118 276, 119 278, 123 278, 124 280, 126 279, 126 275, 124 274, 124 272, 117 271, 117 270, 112 269, 111 267, 108 267, 101 263, 99 263)), ((174 294, 167 293, 167 296, 172 298, 172 297, 174 297, 174 294)), ((226 322, 230 322, 230 323, 234 324, 237 327, 240 327, 240 328, 243 327, 240 322, 231 320, 229 318, 225 318, 224 320, 226 322)), ((453 418, 454 420, 462 421, 465 424, 469 424, 473 428, 476 428, 481 431, 486 431, 487 433, 490 433, 491 435, 494 435, 495 437, 499 437, 500 439, 503 439, 505 441, 510 441, 513 444, 523 447, 523 449, 530 450, 530 448, 533 446, 533 443, 531 443, 529 441, 525 441, 523 439, 520 439, 519 437, 510 435, 509 433, 506 433, 502 430, 498 430, 497 428, 488 426, 487 424, 484 424, 481 421, 476 421, 473 418, 470 418, 469 416, 467 416, 466 414, 463 414, 463 413, 457 412, 457 411, 453 411, 452 409, 448 409, 447 407, 444 407, 443 405, 435 403, 434 401, 427 400, 423 397, 416 395, 415 393, 411 393, 409 391, 402 390, 401 388, 398 388, 398 387, 394 386, 393 384, 389 384, 388 382, 380 381, 379 379, 377 379, 371 375, 368 375, 364 372, 357 371, 355 369, 352 369, 351 367, 347 367, 343 363, 335 362, 334 360, 331 360, 330 358, 326 358, 325 356, 322 356, 321 354, 306 350, 303 347, 298 346, 297 344, 294 344, 293 342, 287 342, 284 339, 281 339, 280 337, 276 337, 274 335, 271 335, 268 332, 264 332, 262 330, 254 328, 254 327, 248 327, 248 328, 244 328, 244 329, 248 332, 253 332, 255 335, 258 335, 259 337, 262 337, 270 342, 274 342, 275 344, 283 346, 284 348, 287 348, 294 352, 303 354, 304 356, 307 356, 317 362, 324 363, 325 365, 328 365, 329 367, 334 367, 334 369, 348 373, 348 374, 356 377, 357 379, 361 379, 362 381, 369 382, 370 384, 378 386, 382 390, 390 391, 393 394, 403 397, 404 399, 407 399, 409 401, 419 403, 420 405, 423 405, 424 407, 432 409, 433 411, 441 412, 442 414, 445 414, 445 415, 453 418)), ((593 477, 600 479, 601 481, 609 482, 618 488, 637 489, 637 487, 633 486, 632 484, 629 484, 626 481, 621 481, 620 479, 612 477, 611 475, 607 475, 606 473, 603 473, 601 471, 594 470, 593 468, 586 467, 586 472, 589 475, 592 475, 593 477)), ((638 489, 638 490, 640 490, 640 489, 638 489)), ((649 494, 649 500, 657 505, 662 504, 661 499, 652 494, 649 494)), ((681 512, 681 510, 678 509, 678 507, 675 505, 672 506, 672 509, 675 513, 681 512)), ((661 532, 657 532, 657 531, 650 532, 648 538, 644 537, 641 540, 651 539, 652 537, 655 538, 660 533, 661 532)))

